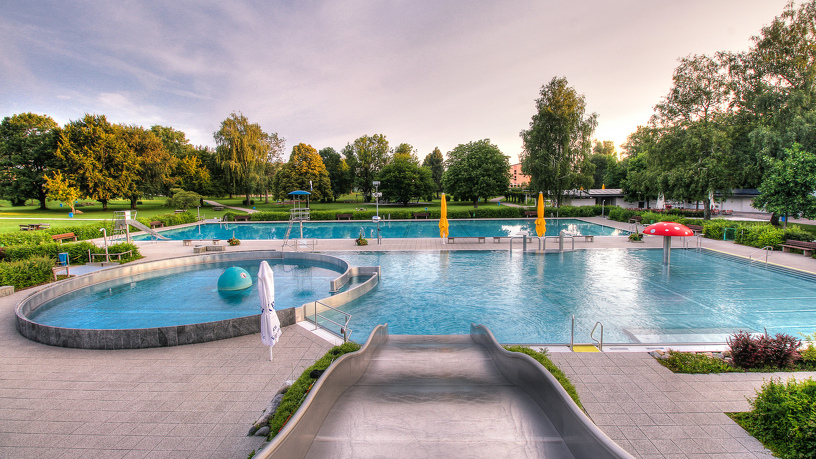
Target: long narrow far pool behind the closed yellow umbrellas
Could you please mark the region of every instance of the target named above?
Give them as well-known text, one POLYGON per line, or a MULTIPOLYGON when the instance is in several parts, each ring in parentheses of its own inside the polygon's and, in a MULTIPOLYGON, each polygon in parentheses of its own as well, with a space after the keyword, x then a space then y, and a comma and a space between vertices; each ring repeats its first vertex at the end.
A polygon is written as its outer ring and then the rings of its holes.
MULTIPOLYGON (((511 236, 519 231, 535 234, 533 220, 449 220, 451 237, 511 236)), ((283 239, 288 222, 276 223, 203 223, 162 231, 162 236, 173 240, 183 239, 283 239)), ((309 239, 355 239, 363 231, 366 238, 377 235, 377 225, 369 220, 343 222, 304 222, 303 237, 309 239)), ((437 220, 383 220, 380 230, 384 238, 439 237, 437 220)), ((629 232, 597 225, 577 219, 547 219, 547 236, 557 236, 562 230, 586 236, 625 236, 629 232)), ((292 228, 291 237, 300 237, 300 227, 292 228)), ((135 240, 148 240, 150 235, 140 234, 135 240)))

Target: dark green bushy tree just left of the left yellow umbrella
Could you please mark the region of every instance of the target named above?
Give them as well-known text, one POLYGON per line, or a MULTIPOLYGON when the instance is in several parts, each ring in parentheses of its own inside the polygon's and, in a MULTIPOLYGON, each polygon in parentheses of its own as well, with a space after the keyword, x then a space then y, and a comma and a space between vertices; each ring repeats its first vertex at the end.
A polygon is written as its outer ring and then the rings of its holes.
POLYGON ((402 153, 394 153, 394 158, 380 173, 383 197, 406 206, 413 198, 433 198, 436 184, 431 170, 419 165, 412 149, 400 151, 402 153))

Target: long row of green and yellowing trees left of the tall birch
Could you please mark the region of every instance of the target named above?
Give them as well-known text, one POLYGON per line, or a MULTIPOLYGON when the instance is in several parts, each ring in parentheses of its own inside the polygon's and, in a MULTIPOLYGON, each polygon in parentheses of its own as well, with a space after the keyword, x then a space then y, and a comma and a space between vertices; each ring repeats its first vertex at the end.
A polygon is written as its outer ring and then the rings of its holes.
POLYGON ((129 199, 135 208, 142 197, 179 189, 243 194, 247 202, 252 194, 285 199, 298 189, 329 201, 357 190, 370 201, 379 180, 384 198, 407 204, 438 197, 443 184, 474 202, 509 185, 507 157, 487 140, 458 146, 448 161, 436 148, 420 163, 411 145, 392 149, 376 134, 356 139, 341 153, 301 143, 283 162, 284 139, 240 113, 221 123, 214 140, 215 149, 193 147, 173 128, 111 124, 103 115, 85 115, 63 127, 44 115, 13 115, 0 123, 0 195, 14 205, 36 199, 42 209, 47 199, 73 203, 87 197, 107 210, 111 199, 129 199))

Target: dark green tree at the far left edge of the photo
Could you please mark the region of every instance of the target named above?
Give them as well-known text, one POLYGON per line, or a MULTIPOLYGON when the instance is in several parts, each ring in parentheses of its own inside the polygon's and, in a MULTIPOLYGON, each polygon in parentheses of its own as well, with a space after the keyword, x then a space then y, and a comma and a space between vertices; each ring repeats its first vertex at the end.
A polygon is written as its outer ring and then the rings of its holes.
POLYGON ((51 117, 22 113, 0 123, 0 195, 12 205, 26 199, 46 206, 46 174, 58 167, 59 125, 51 117))

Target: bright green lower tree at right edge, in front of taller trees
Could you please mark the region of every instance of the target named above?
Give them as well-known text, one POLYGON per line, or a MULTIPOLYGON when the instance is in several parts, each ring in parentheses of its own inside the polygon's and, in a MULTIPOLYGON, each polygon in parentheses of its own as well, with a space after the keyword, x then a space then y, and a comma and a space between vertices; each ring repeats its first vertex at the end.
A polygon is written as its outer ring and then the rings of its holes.
MULTIPOLYGON (((754 198, 756 208, 785 215, 816 217, 816 155, 794 144, 785 157, 766 157, 769 167, 754 198)), ((785 218, 785 227, 788 219, 785 218)))

